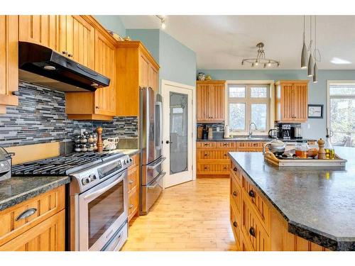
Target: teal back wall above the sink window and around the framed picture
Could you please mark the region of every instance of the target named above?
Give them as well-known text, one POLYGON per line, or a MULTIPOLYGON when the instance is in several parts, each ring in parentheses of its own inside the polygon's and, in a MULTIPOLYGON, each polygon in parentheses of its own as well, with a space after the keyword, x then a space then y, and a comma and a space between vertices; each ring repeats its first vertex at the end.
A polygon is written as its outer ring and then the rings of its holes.
MULTIPOLYGON (((306 70, 197 70, 211 74, 212 79, 226 80, 279 80, 279 79, 307 79, 306 70)), ((325 138, 327 127, 327 80, 355 80, 355 70, 319 70, 318 82, 309 83, 308 103, 324 104, 323 119, 308 119, 302 124, 305 138, 325 138)))

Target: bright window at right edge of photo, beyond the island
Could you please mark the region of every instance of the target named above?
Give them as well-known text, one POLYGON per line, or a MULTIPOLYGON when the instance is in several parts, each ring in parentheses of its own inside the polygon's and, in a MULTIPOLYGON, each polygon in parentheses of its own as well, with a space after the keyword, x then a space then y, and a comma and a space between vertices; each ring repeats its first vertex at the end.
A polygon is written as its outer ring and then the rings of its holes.
POLYGON ((334 145, 355 147, 355 81, 329 84, 328 126, 334 145))

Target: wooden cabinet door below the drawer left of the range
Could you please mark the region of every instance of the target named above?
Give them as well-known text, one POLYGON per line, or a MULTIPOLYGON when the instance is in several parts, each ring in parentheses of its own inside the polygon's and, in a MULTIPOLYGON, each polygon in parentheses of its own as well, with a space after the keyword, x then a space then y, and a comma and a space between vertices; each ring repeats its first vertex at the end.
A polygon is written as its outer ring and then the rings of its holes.
POLYGON ((0 251, 64 251, 64 239, 65 210, 62 210, 1 245, 0 251))

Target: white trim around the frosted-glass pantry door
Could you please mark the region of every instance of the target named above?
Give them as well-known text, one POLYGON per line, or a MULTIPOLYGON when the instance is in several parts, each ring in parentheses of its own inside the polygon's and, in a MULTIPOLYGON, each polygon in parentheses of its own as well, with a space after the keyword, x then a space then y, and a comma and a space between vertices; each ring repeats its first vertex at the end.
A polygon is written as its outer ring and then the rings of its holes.
MULTIPOLYGON (((164 89, 169 86, 180 87, 182 89, 189 89, 192 92, 192 180, 196 179, 196 138, 197 138, 197 124, 196 124, 196 87, 178 82, 171 82, 170 80, 161 79, 161 94, 164 89)), ((164 101, 164 99, 163 99, 164 101)), ((164 184, 165 187, 165 184, 164 184)))

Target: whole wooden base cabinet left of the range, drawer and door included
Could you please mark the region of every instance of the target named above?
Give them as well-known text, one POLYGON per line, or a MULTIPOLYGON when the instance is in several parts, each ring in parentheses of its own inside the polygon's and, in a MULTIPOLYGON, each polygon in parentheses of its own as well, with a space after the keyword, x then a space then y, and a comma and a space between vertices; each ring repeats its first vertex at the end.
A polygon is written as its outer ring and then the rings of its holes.
POLYGON ((65 186, 0 211, 0 225, 0 250, 64 251, 65 186))

